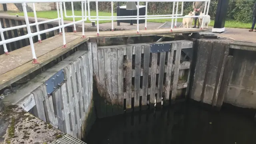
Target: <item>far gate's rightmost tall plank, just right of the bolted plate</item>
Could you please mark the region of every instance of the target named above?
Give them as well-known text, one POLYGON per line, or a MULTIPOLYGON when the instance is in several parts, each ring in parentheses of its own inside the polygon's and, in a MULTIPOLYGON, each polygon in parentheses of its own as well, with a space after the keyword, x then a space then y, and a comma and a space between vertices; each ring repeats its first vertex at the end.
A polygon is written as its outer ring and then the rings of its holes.
POLYGON ((175 65, 174 65, 175 70, 174 70, 173 85, 172 85, 172 100, 175 100, 177 95, 181 48, 182 48, 182 43, 177 42, 177 50, 176 50, 175 65))

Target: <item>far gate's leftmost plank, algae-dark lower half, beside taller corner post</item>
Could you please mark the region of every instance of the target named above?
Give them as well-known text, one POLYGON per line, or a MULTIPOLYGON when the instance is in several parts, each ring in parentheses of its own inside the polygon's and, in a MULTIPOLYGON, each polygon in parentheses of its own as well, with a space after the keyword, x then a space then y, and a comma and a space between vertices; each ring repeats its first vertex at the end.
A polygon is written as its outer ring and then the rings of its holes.
POLYGON ((99 118, 105 117, 107 112, 106 107, 106 78, 105 78, 105 62, 104 62, 104 50, 98 50, 98 67, 99 67, 99 78, 96 79, 98 92, 100 94, 100 114, 99 118))

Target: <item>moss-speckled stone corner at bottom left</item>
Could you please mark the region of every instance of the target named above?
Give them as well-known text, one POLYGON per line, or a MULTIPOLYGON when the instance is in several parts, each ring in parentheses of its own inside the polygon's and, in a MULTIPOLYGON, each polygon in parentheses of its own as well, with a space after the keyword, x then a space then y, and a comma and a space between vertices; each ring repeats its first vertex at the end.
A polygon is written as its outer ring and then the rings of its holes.
POLYGON ((64 134, 17 105, 0 112, 0 144, 49 144, 64 134))

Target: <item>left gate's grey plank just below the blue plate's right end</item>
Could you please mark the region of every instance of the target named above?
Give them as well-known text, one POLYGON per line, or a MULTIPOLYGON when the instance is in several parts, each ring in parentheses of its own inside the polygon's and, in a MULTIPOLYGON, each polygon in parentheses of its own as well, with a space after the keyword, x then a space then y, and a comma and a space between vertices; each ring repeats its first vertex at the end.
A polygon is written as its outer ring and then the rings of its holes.
POLYGON ((68 96, 67 96, 67 90, 66 90, 66 83, 63 83, 60 86, 60 91, 61 91, 60 100, 62 101, 63 111, 64 111, 64 114, 62 114, 62 116, 65 119, 63 121, 64 132, 67 133, 67 134, 72 134, 72 132, 70 130, 70 118, 69 118, 70 107, 68 105, 68 96))

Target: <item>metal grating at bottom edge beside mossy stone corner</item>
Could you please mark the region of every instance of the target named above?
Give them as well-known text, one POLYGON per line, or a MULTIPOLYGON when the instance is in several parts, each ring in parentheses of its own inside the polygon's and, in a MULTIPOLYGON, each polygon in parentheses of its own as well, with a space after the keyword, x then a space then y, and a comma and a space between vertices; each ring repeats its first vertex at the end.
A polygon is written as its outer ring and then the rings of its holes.
POLYGON ((50 144, 86 144, 86 143, 70 134, 66 134, 62 136, 62 138, 59 138, 58 140, 55 140, 50 144))

